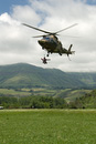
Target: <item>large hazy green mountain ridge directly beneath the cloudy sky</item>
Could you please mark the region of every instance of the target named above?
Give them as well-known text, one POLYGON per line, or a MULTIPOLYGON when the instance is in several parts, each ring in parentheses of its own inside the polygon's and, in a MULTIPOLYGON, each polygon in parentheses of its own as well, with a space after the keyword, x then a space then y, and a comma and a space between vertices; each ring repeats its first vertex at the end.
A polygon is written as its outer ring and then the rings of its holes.
POLYGON ((96 73, 66 73, 26 63, 0 66, 0 88, 77 89, 94 86, 96 73), (87 82, 88 81, 88 82, 87 82))

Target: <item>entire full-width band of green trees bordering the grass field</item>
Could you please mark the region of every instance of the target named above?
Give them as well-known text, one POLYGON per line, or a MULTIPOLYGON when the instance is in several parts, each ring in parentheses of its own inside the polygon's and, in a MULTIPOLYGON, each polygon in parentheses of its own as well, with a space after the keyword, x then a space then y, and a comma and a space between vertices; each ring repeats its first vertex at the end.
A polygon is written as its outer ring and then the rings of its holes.
POLYGON ((96 109, 96 90, 67 103, 63 97, 53 96, 0 96, 4 109, 96 109))

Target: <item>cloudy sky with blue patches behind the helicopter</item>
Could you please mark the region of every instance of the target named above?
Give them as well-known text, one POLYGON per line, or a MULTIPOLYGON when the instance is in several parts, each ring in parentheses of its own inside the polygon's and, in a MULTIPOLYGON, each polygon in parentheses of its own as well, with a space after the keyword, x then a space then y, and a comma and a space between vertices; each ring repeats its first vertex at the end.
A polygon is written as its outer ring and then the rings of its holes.
POLYGON ((60 69, 64 72, 96 72, 96 0, 0 0, 0 65, 29 63, 36 66, 60 69), (43 34, 22 25, 28 23, 46 31, 61 32, 63 48, 75 54, 46 54, 32 37, 43 34), (72 37, 68 37, 72 35, 72 37))

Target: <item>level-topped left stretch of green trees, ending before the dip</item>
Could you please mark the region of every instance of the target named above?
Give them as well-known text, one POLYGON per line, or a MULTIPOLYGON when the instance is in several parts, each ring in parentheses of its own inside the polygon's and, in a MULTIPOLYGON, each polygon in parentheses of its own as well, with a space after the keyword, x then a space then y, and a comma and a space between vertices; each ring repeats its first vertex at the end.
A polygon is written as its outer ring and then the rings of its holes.
POLYGON ((52 96, 0 96, 0 105, 4 109, 64 109, 67 103, 64 99, 52 96))

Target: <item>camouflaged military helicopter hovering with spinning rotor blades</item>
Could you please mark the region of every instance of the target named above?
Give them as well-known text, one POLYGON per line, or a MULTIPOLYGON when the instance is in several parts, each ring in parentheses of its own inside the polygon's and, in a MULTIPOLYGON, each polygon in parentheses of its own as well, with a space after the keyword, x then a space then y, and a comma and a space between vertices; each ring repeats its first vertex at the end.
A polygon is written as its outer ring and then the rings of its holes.
POLYGON ((68 50, 63 48, 61 41, 58 41, 58 33, 62 32, 62 31, 65 31, 72 27, 75 27, 77 23, 75 24, 72 24, 65 29, 62 29, 60 31, 56 31, 56 32, 49 32, 49 31, 45 31, 45 30, 42 30, 42 29, 39 29, 39 28, 35 28, 35 27, 32 27, 32 25, 29 25, 29 24, 25 24, 25 23, 22 23, 23 25, 25 27, 29 27, 29 28, 32 28, 34 30, 38 30, 38 31, 41 31, 43 33, 46 33, 46 34, 43 34, 43 35, 36 35, 36 37, 33 37, 33 38, 41 38, 41 40, 39 40, 39 44, 42 47, 42 49, 46 50, 47 51, 47 56, 50 53, 58 53, 60 55, 62 54, 66 54, 67 56, 70 54, 73 54, 75 51, 71 51, 73 44, 70 45, 68 50))

